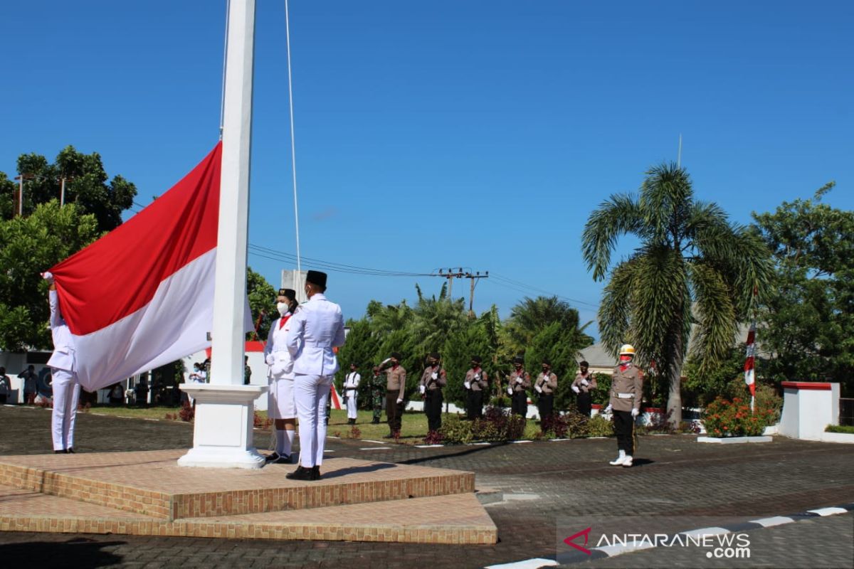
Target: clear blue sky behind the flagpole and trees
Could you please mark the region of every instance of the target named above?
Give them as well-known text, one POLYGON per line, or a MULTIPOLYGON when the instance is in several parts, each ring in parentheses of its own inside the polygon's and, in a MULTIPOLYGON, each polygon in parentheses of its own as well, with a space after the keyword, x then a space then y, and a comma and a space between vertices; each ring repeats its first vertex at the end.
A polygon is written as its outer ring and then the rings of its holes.
MULTIPOLYGON (((0 171, 73 144, 148 204, 217 141, 224 20, 213 0, 8 3, 0 171)), ((680 133, 697 197, 735 222, 832 179, 854 208, 851 2, 293 0, 290 23, 311 258, 489 270, 525 286, 483 279, 477 311, 541 289, 592 320, 583 224, 680 133)), ((286 73, 284 2, 260 0, 249 241, 292 254, 286 73)), ((249 264, 274 286, 293 268, 249 264)), ((329 295, 360 316, 415 282, 443 280, 333 272, 329 295)))

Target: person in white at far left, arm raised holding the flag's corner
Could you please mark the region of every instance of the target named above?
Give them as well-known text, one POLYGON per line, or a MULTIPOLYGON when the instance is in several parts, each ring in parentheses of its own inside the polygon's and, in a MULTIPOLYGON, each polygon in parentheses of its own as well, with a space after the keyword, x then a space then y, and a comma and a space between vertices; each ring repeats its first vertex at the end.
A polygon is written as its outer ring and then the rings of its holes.
POLYGON ((62 317, 54 277, 50 272, 45 272, 42 276, 50 283, 50 335, 53 338, 54 351, 48 360, 48 367, 53 377, 53 411, 50 419, 54 452, 58 455, 74 454, 74 419, 77 417, 77 402, 80 397, 74 341, 62 317))

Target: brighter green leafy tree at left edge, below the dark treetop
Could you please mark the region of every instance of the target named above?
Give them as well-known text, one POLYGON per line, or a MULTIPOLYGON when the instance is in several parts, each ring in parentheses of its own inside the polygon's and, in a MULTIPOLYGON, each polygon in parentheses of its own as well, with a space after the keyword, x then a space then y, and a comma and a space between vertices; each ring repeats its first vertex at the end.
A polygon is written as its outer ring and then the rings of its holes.
POLYGON ((0 350, 50 347, 47 285, 39 273, 99 236, 95 216, 56 200, 28 217, 0 219, 0 350))

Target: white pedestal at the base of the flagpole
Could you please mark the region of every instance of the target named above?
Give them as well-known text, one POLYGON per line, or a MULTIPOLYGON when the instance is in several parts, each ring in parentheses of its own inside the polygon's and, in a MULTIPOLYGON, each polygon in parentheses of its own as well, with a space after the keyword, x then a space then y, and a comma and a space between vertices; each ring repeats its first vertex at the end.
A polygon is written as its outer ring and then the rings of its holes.
POLYGON ((178 466, 260 468, 264 457, 252 442, 254 400, 267 386, 187 384, 181 389, 196 399, 193 448, 178 466))

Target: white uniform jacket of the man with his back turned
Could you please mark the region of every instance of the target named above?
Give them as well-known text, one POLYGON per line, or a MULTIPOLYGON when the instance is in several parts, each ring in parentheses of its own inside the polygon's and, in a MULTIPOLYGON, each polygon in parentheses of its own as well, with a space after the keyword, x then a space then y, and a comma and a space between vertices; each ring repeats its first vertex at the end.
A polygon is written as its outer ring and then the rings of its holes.
POLYGON ((295 374, 331 375, 338 371, 332 348, 344 345, 341 306, 315 293, 300 305, 285 328, 290 328, 285 341, 294 358, 295 374))

